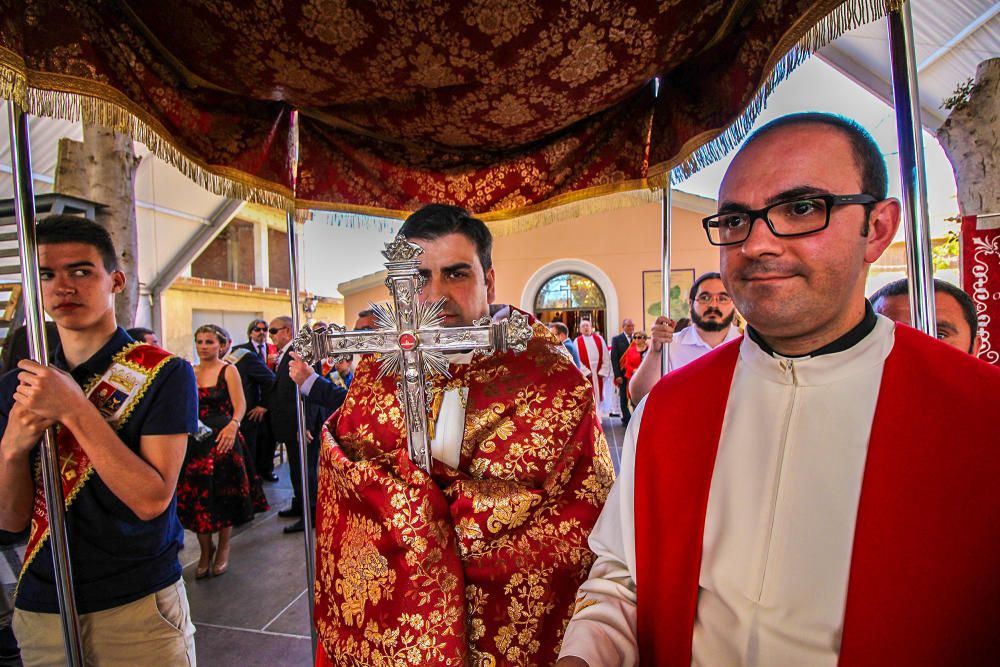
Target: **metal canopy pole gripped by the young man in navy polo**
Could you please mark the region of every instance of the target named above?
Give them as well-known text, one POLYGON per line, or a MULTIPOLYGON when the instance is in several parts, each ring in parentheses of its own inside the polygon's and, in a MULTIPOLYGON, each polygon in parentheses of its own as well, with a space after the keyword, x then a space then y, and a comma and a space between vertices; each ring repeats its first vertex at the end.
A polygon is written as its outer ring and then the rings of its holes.
MULTIPOLYGON (((10 153, 14 176, 14 217, 21 259, 25 324, 28 332, 28 352, 31 358, 48 365, 45 340, 45 320, 42 315, 42 292, 39 289, 38 247, 35 241, 35 193, 31 180, 31 150, 28 140, 28 114, 19 104, 7 106, 10 125, 10 153)), ((55 430, 48 429, 42 438, 42 484, 48 509, 49 540, 52 564, 56 575, 56 597, 62 621, 66 663, 83 667, 83 641, 80 638, 80 618, 76 611, 73 591, 73 571, 69 560, 66 535, 66 505, 63 498, 62 474, 56 448, 55 430)))

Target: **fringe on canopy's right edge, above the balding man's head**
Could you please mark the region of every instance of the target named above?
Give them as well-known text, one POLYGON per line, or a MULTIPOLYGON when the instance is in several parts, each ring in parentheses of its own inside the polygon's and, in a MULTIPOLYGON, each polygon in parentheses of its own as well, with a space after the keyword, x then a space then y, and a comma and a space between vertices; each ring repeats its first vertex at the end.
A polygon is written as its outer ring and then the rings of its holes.
POLYGON ((764 110, 764 103, 771 93, 804 63, 813 53, 846 32, 861 25, 884 18, 890 11, 897 11, 905 0, 847 0, 824 3, 796 21, 795 25, 778 41, 764 71, 766 78, 757 88, 757 94, 743 112, 722 130, 709 130, 690 139, 678 157, 653 165, 649 181, 656 187, 676 185, 697 171, 721 160, 737 148, 750 133, 764 110), (836 4, 830 9, 830 4, 836 4), (819 16, 817 16, 819 15, 819 16), (802 26, 812 25, 803 32, 802 26), (683 157, 681 157, 683 156, 683 157))

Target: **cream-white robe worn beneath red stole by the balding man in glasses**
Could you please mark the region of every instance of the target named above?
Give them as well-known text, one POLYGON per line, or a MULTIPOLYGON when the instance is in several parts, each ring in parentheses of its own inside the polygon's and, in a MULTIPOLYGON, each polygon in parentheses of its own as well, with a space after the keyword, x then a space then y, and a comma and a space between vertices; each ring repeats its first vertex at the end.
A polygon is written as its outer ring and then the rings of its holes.
MULTIPOLYGON (((879 316, 852 348, 794 360, 743 340, 709 491, 692 664, 836 665, 893 332, 879 316)), ((561 655, 591 667, 638 661, 633 498, 644 408, 626 431, 621 474, 590 536, 598 558, 563 640, 561 655)))

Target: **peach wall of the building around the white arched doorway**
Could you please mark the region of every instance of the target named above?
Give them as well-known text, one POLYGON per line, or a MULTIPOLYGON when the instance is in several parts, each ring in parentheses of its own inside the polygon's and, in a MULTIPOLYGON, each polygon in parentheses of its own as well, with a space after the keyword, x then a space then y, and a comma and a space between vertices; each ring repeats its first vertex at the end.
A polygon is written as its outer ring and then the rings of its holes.
MULTIPOLYGON (((705 238, 702 217, 701 213, 674 208, 672 268, 694 269, 695 275, 718 270, 719 252, 705 238)), ((660 268, 660 218, 659 203, 643 204, 561 220, 494 239, 497 303, 522 306, 522 296, 533 301, 535 294, 524 295, 533 276, 536 278, 533 282, 537 282, 563 272, 553 270, 550 275, 549 271, 544 271, 537 275, 543 267, 560 260, 581 260, 597 267, 612 283, 618 316, 616 322, 609 322, 610 334, 618 332, 625 317, 631 317, 641 327, 642 272, 660 268)), ((580 272, 588 275, 583 267, 580 272)), ((370 287, 355 293, 347 293, 341 285, 348 326, 369 301, 388 299, 381 280, 372 282, 370 287)), ((612 295, 605 297, 610 301, 612 295)))

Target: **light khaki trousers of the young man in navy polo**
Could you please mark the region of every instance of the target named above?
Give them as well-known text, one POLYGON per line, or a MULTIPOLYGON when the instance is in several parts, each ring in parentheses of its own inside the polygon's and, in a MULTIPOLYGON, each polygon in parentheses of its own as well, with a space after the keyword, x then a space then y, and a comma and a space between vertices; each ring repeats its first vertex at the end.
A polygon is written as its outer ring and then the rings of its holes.
MULTIPOLYGON (((195 667, 194 623, 184 580, 119 607, 80 615, 87 667, 195 667)), ((59 614, 14 610, 24 667, 64 667, 59 614)))

